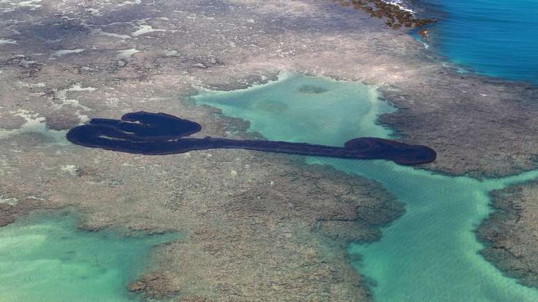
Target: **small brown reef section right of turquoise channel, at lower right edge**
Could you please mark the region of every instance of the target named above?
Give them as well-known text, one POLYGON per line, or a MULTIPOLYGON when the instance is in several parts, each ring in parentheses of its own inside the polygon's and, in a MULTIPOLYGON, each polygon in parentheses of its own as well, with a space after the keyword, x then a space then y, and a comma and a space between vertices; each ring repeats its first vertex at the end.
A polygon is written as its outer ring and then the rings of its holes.
POLYGON ((538 287, 538 182, 494 191, 495 211, 478 228, 484 258, 522 284, 538 287))

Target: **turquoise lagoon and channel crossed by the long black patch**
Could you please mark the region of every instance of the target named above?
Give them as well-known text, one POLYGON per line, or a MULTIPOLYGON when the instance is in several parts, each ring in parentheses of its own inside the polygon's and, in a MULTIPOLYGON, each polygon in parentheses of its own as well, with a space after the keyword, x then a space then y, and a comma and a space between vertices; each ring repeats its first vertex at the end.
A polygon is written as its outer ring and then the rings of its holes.
MULTIPOLYGON (((204 91, 193 99, 250 121, 251 131, 270 140, 342 145, 365 135, 391 137, 375 122, 393 110, 378 97, 375 87, 360 83, 286 74, 267 85, 204 91), (308 94, 304 87, 325 92, 308 94)), ((491 211, 490 190, 538 178, 538 171, 478 181, 382 160, 307 161, 373 178, 406 204, 407 212, 384 228, 382 240, 349 246, 349 253, 363 256, 353 265, 375 284, 377 301, 538 301, 538 290, 506 278, 478 254, 482 245, 473 233, 491 211)))

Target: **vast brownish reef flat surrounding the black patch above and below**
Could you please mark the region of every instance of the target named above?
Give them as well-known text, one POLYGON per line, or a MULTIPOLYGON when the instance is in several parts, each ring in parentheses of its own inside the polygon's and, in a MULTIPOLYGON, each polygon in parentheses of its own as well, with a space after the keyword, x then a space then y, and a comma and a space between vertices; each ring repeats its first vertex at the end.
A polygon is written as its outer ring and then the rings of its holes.
MULTIPOLYGON (((195 108, 188 96, 290 70, 377 85, 400 108, 382 120, 404 142, 438 151, 430 169, 505 175, 537 167, 535 87, 459 75, 384 20, 332 1, 23 2, 0 3, 0 39, 13 41, 0 44, 1 199, 19 202, 6 205, 14 218, 30 199, 38 208, 76 206, 84 228, 184 230, 188 240, 155 251, 163 265, 147 272, 174 276, 163 292, 368 299, 341 245, 326 238, 350 224, 331 219, 366 225, 364 208, 392 209, 393 200, 360 178, 335 181, 319 167, 285 164, 289 156, 152 158, 67 142, 67 129, 90 117, 170 112, 203 121, 197 137, 252 139, 247 123, 195 108), (54 56, 74 49, 85 50, 54 56)), ((378 236, 377 223, 396 217, 388 214, 354 239, 378 236)))

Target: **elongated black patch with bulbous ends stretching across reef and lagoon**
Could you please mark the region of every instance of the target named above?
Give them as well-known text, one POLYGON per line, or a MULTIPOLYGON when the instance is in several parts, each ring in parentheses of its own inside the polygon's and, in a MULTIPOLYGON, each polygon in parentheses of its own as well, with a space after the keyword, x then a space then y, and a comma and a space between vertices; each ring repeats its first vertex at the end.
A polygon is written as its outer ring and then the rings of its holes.
POLYGON ((263 140, 186 137, 202 130, 199 124, 165 113, 132 112, 122 120, 92 119, 67 133, 74 144, 127 153, 164 155, 205 149, 247 149, 304 156, 393 160, 400 165, 433 162, 433 149, 376 137, 359 137, 344 147, 263 140))

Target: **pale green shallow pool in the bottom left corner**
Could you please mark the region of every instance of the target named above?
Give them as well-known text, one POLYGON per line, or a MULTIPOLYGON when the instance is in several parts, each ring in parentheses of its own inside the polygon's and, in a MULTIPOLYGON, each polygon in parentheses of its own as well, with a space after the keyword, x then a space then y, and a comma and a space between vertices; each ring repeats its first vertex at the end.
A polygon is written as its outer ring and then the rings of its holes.
POLYGON ((149 249, 177 235, 76 228, 73 215, 31 215, 0 228, 0 301, 133 301, 126 286, 149 249))

